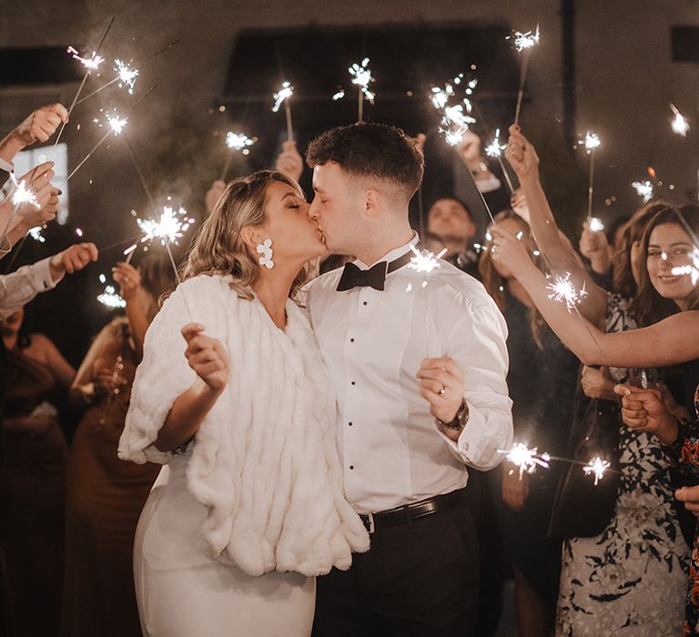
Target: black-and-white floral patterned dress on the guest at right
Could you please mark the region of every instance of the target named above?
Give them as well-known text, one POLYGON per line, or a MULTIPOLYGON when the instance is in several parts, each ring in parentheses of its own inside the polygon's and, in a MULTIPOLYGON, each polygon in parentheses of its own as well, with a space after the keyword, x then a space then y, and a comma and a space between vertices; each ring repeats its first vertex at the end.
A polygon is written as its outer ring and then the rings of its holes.
MULTIPOLYGON (((607 332, 636 327, 612 295, 607 332)), ((626 375, 614 369, 617 378, 626 375)), ((598 536, 563 543, 556 634, 561 637, 680 634, 687 547, 659 443, 620 423, 622 476, 616 510, 598 536)), ((699 470, 699 467, 697 468, 699 470)))

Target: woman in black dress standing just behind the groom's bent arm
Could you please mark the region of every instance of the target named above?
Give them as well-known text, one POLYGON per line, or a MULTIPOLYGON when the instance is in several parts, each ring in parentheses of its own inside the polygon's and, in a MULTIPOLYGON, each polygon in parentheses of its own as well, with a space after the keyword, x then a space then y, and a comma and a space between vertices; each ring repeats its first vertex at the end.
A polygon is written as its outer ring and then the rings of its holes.
MULTIPOLYGON (((495 216, 543 269, 529 226, 511 210, 495 216)), ((578 360, 542 319, 522 284, 501 265, 488 243, 479 268, 483 285, 507 322, 515 440, 563 456, 572 424, 572 399, 577 385, 578 360), (556 399, 552 400, 551 397, 556 399)), ((512 561, 515 607, 520 637, 547 637, 555 621, 561 575, 561 540, 547 537, 556 485, 561 470, 520 473, 504 463, 501 471, 486 474, 500 531, 512 561)))

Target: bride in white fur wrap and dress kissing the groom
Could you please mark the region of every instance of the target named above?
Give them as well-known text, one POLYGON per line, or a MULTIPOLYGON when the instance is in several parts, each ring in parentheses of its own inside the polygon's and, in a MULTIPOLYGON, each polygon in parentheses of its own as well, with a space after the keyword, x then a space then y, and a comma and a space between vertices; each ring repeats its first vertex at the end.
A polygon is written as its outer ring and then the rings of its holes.
POLYGON ((145 635, 309 635, 315 576, 369 548, 293 301, 325 251, 308 207, 276 172, 229 184, 148 329, 119 443, 165 465, 135 545, 145 635))

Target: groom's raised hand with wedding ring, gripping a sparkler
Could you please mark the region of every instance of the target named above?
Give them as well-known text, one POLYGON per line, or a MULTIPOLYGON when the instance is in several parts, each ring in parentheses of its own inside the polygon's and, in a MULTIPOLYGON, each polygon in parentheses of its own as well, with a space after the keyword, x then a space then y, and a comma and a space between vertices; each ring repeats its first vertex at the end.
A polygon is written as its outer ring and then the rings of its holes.
POLYGON ((451 422, 463 401, 463 369, 454 359, 424 359, 417 373, 420 395, 430 403, 430 413, 442 422, 451 422))

